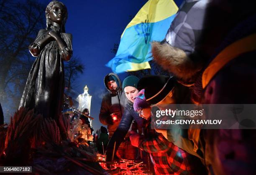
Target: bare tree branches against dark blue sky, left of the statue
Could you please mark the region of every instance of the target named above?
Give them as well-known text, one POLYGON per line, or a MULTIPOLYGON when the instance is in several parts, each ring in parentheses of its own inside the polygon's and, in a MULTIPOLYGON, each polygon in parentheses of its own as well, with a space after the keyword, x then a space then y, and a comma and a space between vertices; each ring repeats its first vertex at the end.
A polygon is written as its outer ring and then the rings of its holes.
POLYGON ((0 0, 0 101, 13 110, 33 64, 28 45, 45 28, 45 7, 33 0, 0 0), (10 102, 12 101, 12 102, 10 102))

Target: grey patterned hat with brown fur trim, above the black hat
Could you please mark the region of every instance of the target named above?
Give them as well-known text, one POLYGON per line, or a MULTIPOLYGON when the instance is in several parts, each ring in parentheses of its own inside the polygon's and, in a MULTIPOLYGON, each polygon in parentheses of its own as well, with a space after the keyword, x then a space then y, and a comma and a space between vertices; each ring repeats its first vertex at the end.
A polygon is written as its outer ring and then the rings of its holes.
POLYGON ((205 46, 202 33, 209 3, 203 0, 186 1, 179 8, 164 41, 151 43, 154 61, 186 86, 195 82, 202 69, 206 51, 202 48, 205 46))

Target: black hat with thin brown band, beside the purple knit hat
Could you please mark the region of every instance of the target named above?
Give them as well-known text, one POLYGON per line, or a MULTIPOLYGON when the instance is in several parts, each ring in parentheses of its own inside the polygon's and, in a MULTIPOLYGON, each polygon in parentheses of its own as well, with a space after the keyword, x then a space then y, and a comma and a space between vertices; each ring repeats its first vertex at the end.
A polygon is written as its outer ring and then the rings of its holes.
POLYGON ((148 104, 153 105, 162 101, 174 88, 175 83, 174 76, 145 76, 138 82, 138 90, 145 89, 146 101, 148 104))

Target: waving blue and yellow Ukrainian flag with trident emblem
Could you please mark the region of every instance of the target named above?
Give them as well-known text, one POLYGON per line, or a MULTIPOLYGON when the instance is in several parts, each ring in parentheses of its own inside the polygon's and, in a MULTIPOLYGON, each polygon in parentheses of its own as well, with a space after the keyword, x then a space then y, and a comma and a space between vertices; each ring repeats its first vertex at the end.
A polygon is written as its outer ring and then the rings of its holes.
POLYGON ((118 51, 106 66, 116 74, 150 68, 151 42, 164 40, 177 11, 173 0, 149 0, 126 26, 118 51))

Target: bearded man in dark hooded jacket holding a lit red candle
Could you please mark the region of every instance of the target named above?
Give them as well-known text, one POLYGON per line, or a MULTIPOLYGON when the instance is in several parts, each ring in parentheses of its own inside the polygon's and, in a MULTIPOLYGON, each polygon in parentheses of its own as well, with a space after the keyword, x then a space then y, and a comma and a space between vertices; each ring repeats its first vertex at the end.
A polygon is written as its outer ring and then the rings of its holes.
POLYGON ((108 125, 109 137, 111 138, 122 118, 127 98, 122 90, 122 83, 119 77, 110 73, 105 76, 104 84, 110 93, 105 94, 102 99, 100 122, 108 125))

